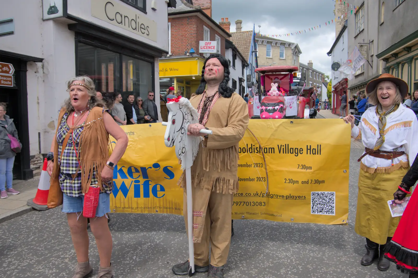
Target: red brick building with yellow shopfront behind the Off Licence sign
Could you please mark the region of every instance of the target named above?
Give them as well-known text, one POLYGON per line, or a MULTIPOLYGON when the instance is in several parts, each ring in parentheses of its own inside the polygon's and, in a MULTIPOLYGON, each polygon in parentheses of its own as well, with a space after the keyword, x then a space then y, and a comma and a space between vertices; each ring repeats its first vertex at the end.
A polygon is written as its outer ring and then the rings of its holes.
POLYGON ((225 38, 231 35, 212 19, 212 0, 176 0, 168 8, 168 55, 159 60, 160 92, 170 86, 190 98, 200 84, 209 53, 199 53, 200 41, 216 41, 225 56, 225 38))

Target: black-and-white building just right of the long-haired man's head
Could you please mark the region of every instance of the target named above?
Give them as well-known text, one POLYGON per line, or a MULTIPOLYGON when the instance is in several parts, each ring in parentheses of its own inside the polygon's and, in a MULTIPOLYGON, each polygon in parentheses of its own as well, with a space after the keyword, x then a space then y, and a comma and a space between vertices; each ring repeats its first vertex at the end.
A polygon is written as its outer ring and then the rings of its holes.
POLYGON ((242 56, 238 48, 230 41, 225 39, 225 58, 229 62, 229 86, 235 89, 237 94, 245 96, 246 73, 248 71, 247 59, 242 56))

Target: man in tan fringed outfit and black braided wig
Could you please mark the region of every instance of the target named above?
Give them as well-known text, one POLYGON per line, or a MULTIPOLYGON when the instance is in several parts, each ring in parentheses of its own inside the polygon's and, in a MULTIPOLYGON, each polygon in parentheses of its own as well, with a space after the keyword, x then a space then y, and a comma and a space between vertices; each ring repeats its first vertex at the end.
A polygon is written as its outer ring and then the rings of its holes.
MULTIPOLYGON (((190 99, 199 112, 199 124, 191 124, 187 134, 204 136, 191 167, 193 198, 194 262, 196 272, 222 278, 232 232, 232 199, 238 191, 238 143, 249 123, 248 106, 228 86, 229 64, 220 54, 212 54, 204 63, 196 96, 190 99), (201 134, 210 129, 212 135, 201 134), (210 250, 209 250, 210 243, 210 250), (209 264, 210 251, 210 264, 209 264)), ((185 178, 184 220, 187 228, 185 178)), ((187 229, 186 229, 187 230, 187 229)), ((189 260, 174 265, 176 275, 187 275, 189 260)))

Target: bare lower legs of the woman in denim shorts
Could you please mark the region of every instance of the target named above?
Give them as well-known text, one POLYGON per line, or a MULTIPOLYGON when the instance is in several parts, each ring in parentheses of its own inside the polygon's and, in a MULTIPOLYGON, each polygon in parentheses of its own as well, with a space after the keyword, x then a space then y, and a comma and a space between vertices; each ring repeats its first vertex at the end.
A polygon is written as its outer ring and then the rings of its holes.
MULTIPOLYGON (((77 262, 84 263, 89 260, 89 235, 87 233, 87 218, 80 215, 77 220, 76 213, 67 213, 68 225, 70 227, 71 239, 77 255, 77 262)), ((99 251, 100 266, 110 266, 112 256, 112 235, 110 234, 107 218, 105 216, 90 218, 90 228, 96 239, 97 250, 99 251)))

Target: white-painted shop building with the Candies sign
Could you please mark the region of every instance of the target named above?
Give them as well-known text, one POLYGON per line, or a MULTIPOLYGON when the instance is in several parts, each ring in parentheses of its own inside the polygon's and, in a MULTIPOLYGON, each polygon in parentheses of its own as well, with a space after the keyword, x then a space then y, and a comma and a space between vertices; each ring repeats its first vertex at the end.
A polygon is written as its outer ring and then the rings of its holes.
POLYGON ((158 58, 168 53, 167 6, 175 1, 2 2, 0 62, 13 64, 15 81, 0 86, 0 101, 23 144, 18 178, 31 178, 30 158, 49 152, 66 82, 76 75, 92 77, 104 95, 145 99, 152 90, 159 111, 158 58))

